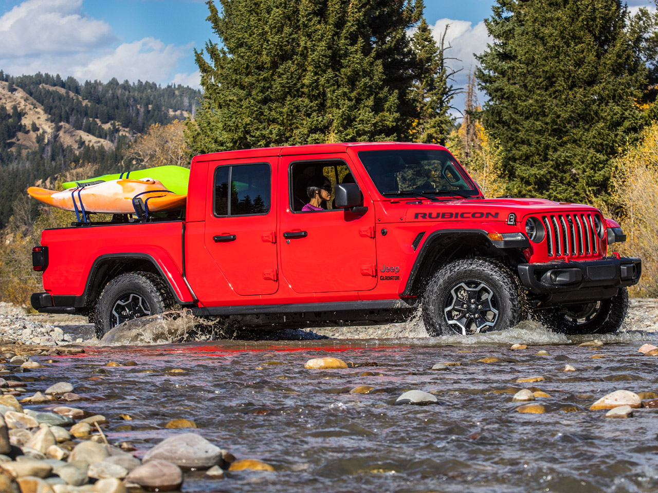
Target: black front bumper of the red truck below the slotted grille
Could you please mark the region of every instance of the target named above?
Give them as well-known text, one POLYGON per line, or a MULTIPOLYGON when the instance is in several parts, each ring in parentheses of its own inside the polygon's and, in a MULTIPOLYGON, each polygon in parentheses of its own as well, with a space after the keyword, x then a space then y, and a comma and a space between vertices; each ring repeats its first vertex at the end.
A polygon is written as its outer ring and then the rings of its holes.
POLYGON ((535 294, 592 288, 619 289, 637 284, 640 275, 642 275, 642 260, 637 257, 519 264, 521 283, 528 291, 535 294))

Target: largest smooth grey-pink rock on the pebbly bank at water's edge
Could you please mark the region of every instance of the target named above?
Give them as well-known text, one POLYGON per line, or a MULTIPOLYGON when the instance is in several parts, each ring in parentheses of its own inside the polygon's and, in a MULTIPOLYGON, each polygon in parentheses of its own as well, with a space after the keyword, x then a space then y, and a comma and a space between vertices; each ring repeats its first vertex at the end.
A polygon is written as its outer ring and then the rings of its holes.
POLYGON ((222 450, 196 433, 183 433, 166 438, 151 448, 142 462, 161 459, 180 467, 209 468, 220 464, 222 450))

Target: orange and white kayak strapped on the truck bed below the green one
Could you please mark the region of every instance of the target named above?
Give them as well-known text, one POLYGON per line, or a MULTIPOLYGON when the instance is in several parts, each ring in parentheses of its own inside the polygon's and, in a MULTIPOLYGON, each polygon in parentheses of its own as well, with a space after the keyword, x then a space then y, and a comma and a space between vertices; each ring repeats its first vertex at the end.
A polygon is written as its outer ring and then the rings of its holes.
POLYGON ((28 188, 34 199, 64 210, 86 210, 130 214, 135 212, 132 199, 139 196, 149 212, 176 210, 185 207, 188 196, 166 191, 157 179, 113 179, 96 185, 75 187, 61 192, 40 187, 28 188), (82 205, 81 205, 82 204, 82 205))

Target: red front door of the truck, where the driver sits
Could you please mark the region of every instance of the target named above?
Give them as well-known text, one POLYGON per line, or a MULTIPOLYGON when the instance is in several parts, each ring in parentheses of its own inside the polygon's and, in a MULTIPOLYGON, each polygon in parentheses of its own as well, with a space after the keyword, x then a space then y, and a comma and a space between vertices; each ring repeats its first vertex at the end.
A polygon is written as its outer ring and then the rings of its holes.
POLYGON ((358 183, 347 159, 345 154, 282 157, 280 191, 288 193, 280 195, 281 271, 296 293, 366 291, 377 285, 372 202, 365 197, 368 210, 361 216, 333 203, 337 183, 358 183), (330 199, 320 202, 320 210, 303 211, 313 185, 331 189, 330 199))

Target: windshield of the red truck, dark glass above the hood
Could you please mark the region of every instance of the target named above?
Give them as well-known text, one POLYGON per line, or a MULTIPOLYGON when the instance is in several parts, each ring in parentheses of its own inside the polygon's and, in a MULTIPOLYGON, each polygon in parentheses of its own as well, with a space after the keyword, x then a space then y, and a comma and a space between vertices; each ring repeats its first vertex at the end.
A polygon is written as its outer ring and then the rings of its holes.
POLYGON ((379 193, 385 196, 480 195, 466 172, 447 151, 361 151, 359 159, 379 193))

